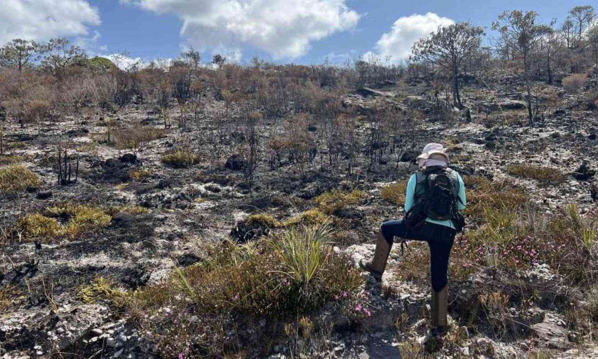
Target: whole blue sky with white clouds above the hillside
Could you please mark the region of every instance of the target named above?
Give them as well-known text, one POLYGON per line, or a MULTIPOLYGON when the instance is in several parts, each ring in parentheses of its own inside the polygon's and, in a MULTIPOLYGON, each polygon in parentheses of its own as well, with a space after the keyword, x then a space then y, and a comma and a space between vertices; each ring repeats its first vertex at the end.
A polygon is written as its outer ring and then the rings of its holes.
POLYGON ((308 64, 328 58, 341 63, 371 51, 398 61, 416 38, 438 25, 470 20, 490 32, 492 20, 504 10, 535 10, 548 22, 553 17, 562 20, 571 7, 585 4, 553 0, 1 0, 0 41, 14 36, 66 36, 93 54, 127 51, 130 57, 144 60, 173 58, 192 44, 205 59, 224 53, 241 61, 257 55, 276 62, 308 64))

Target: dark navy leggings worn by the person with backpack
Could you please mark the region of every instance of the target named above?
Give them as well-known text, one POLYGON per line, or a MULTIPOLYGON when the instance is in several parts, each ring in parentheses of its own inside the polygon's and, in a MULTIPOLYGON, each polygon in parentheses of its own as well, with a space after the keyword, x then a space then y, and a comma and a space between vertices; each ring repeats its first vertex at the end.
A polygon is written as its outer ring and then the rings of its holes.
POLYGON ((417 230, 408 229, 403 220, 382 223, 380 227, 386 241, 392 245, 393 238, 426 241, 430 247, 430 273, 432 288, 441 291, 449 282, 449 255, 457 231, 440 224, 426 222, 417 230))

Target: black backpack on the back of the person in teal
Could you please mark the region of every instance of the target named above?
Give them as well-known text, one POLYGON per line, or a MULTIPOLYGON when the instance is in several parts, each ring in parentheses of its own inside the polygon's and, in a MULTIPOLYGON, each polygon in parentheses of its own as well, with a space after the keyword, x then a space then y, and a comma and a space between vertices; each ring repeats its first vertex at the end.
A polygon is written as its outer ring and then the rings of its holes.
POLYGON ((459 197, 459 177, 450 168, 431 168, 417 171, 413 207, 405 215, 407 226, 417 228, 426 218, 437 221, 453 221, 460 231, 465 226, 465 218, 457 209, 459 197))

